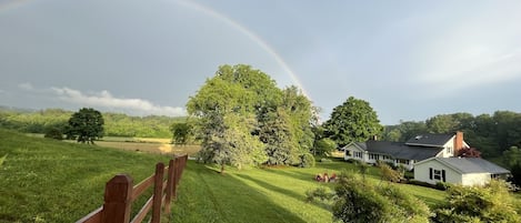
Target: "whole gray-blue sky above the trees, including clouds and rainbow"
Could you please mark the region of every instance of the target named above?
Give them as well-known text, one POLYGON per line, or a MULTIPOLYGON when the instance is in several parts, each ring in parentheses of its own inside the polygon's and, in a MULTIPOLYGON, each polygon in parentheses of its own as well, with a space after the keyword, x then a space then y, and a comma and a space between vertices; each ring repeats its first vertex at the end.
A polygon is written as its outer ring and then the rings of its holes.
POLYGON ((329 119, 521 112, 521 1, 0 0, 0 105, 186 115, 221 64, 297 85, 329 119))

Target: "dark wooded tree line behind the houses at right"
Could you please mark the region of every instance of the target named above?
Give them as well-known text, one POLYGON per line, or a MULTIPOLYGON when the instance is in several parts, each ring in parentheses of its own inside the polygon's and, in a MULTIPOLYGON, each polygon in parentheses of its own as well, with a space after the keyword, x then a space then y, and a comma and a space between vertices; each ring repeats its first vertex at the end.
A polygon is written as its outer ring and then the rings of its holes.
POLYGON ((465 112, 439 114, 425 121, 388 125, 383 140, 403 142, 418 133, 464 132, 464 140, 483 158, 499 158, 512 146, 521 148, 521 113, 495 111, 492 115, 465 112))

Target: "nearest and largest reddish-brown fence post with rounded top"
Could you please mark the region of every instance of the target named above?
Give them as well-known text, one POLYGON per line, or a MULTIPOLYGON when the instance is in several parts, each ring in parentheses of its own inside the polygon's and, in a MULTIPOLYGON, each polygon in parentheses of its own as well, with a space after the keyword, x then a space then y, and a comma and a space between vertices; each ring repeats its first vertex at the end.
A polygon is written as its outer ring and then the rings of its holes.
POLYGON ((127 223, 130 221, 130 202, 133 180, 127 174, 112 178, 104 187, 102 223, 127 223))

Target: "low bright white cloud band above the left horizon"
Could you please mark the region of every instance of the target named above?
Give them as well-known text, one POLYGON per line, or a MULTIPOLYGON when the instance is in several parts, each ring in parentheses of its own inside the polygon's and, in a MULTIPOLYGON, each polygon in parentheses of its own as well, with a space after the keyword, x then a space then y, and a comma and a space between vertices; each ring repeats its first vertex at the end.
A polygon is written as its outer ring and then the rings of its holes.
POLYGON ((81 105, 102 107, 140 115, 181 116, 187 114, 183 108, 161 107, 142 99, 118 99, 109 91, 88 95, 70 88, 51 88, 51 90, 60 100, 81 105))

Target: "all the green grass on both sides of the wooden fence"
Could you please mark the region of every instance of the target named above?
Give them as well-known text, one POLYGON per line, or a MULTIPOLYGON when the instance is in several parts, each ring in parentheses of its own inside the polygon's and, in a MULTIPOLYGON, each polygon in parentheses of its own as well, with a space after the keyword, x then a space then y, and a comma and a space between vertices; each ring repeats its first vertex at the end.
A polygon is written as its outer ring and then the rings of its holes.
MULTIPOLYGON (((81 145, 26 136, 0 130, 0 222, 74 222, 103 201, 104 183, 127 172, 139 182, 153 165, 169 156, 81 145)), ((146 144, 146 143, 144 143, 146 144)), ((333 183, 318 183, 318 173, 353 170, 350 163, 333 161, 315 168, 228 169, 188 163, 171 222, 331 222, 328 205, 307 202, 305 192, 333 183)), ((368 179, 379 180, 371 168, 368 179)), ((385 183, 385 182, 383 182, 385 183)), ((444 192, 402 185, 429 205, 444 192)), ((139 204, 134 205, 134 209, 139 204)))

